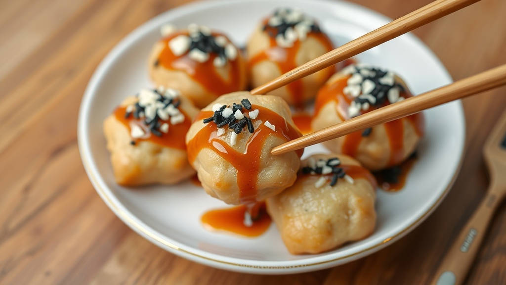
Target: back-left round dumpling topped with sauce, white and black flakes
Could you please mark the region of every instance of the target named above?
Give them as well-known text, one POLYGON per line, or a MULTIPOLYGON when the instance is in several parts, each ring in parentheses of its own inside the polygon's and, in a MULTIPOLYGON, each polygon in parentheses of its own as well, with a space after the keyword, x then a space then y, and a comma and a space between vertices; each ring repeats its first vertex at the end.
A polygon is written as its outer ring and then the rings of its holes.
POLYGON ((183 30, 164 27, 149 56, 157 86, 180 90, 198 108, 222 94, 246 90, 246 62, 225 34, 196 24, 183 30))

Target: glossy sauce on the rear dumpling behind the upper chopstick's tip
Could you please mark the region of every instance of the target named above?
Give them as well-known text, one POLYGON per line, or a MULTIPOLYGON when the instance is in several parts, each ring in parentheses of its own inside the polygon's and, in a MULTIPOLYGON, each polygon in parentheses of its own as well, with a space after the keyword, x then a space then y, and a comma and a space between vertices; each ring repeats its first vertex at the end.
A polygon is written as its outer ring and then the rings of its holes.
MULTIPOLYGON (((263 26, 267 24, 269 19, 265 19, 262 23, 263 26)), ((291 69, 296 68, 299 66, 296 62, 297 54, 301 48, 301 41, 297 40, 293 43, 293 46, 290 48, 281 48, 278 47, 276 44, 276 39, 271 37, 269 35, 269 32, 272 32, 273 34, 277 34, 277 29, 271 26, 267 26, 267 28, 264 31, 268 34, 269 41, 270 41, 270 48, 256 54, 254 57, 252 57, 249 62, 249 70, 256 64, 267 60, 273 63, 276 63, 278 66, 280 75, 289 72, 291 69)), ((307 37, 315 38, 318 42, 321 43, 322 46, 325 47, 327 51, 331 51, 333 49, 332 42, 330 39, 323 33, 323 32, 308 32, 307 37)), ((328 68, 334 68, 334 67, 328 67, 328 68)), ((329 72, 330 77, 333 72, 329 72)), ((290 94, 290 97, 292 101, 294 102, 294 105, 302 105, 304 103, 303 93, 304 93, 304 86, 302 80, 294 81, 288 85, 286 85, 286 88, 290 94)))

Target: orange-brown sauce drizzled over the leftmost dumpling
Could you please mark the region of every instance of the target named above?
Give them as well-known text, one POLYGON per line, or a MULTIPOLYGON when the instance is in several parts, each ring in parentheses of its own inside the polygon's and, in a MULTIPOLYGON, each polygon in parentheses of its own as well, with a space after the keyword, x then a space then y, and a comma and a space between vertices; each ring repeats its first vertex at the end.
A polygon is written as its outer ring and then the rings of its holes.
MULTIPOLYGON (((183 110, 179 109, 179 112, 185 116, 185 120, 179 124, 173 125, 170 120, 160 120, 161 123, 167 123, 169 125, 167 133, 160 132, 161 136, 156 136, 151 133, 147 138, 136 138, 134 141, 146 140, 163 147, 186 150, 185 137, 188 129, 190 129, 191 120, 183 110)), ((129 130, 129 134, 131 132, 130 123, 132 121, 137 121, 139 125, 144 125, 144 118, 135 119, 132 115, 125 118, 125 114, 126 106, 119 106, 114 110, 114 117, 129 130)))

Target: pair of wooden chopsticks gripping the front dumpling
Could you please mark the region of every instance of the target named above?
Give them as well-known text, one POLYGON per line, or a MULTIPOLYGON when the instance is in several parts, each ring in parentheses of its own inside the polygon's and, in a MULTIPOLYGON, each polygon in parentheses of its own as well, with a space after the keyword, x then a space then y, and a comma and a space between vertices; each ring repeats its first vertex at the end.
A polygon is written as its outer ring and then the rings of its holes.
MULTIPOLYGON (((401 34, 442 18, 480 0, 437 0, 397 20, 362 35, 312 61, 253 90, 251 94, 265 94, 296 81, 318 70, 355 56, 401 34)), ((354 131, 390 122, 414 113, 465 98, 506 84, 506 64, 478 75, 462 79, 450 85, 419 94, 400 102, 360 115, 342 123, 293 139, 271 150, 273 155, 283 154, 340 137, 354 131)))

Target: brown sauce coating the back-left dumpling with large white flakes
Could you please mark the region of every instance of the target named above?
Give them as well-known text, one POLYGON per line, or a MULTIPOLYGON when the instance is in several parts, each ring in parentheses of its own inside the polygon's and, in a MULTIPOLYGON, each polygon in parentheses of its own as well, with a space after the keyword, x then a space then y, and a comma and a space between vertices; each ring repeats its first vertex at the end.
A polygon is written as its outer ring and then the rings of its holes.
MULTIPOLYGON (((227 65, 225 67, 229 67, 229 76, 228 80, 226 80, 217 72, 217 67, 213 64, 214 59, 218 56, 217 54, 209 53, 209 59, 200 63, 189 58, 188 53, 185 53, 182 56, 175 56, 172 53, 171 49, 168 47, 168 42, 181 34, 188 35, 188 32, 175 32, 160 40, 163 44, 163 49, 156 61, 158 62, 158 65, 161 65, 166 69, 180 70, 181 72, 184 72, 204 89, 209 92, 213 92, 217 97, 222 94, 237 91, 241 88, 241 70, 239 66, 240 55, 238 55, 238 58, 233 61, 227 61, 227 65)), ((214 37, 218 35, 226 37, 224 34, 216 32, 213 32, 212 35, 214 37)), ((240 50, 237 50, 237 52, 240 53, 240 50)))

